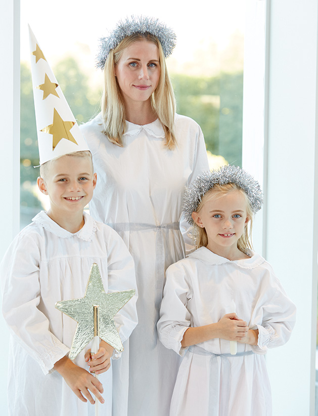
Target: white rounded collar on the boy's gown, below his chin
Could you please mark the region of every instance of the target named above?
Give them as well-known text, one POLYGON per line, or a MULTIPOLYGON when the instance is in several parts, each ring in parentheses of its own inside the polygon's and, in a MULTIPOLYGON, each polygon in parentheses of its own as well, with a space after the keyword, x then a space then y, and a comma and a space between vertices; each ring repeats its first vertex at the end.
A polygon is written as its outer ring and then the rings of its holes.
POLYGON ((41 225, 47 231, 52 232, 53 234, 57 235, 61 238, 70 238, 70 237, 78 237, 84 241, 91 241, 93 238, 94 233, 97 230, 96 221, 93 220, 90 215, 83 213, 84 215, 84 225, 83 227, 77 231, 76 233, 70 233, 69 231, 65 230, 64 228, 60 227, 56 222, 54 222, 46 212, 41 211, 38 213, 32 221, 36 224, 41 225))

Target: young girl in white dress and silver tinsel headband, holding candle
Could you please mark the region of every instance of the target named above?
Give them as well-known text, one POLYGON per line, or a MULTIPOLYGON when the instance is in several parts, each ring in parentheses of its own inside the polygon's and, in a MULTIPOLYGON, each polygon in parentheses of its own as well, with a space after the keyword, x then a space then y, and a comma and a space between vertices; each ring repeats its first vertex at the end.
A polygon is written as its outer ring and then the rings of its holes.
POLYGON ((271 414, 264 354, 290 338, 295 306, 251 250, 261 204, 259 184, 234 166, 204 173, 187 189, 184 213, 197 250, 168 268, 158 322, 160 341, 185 355, 170 415, 271 414))

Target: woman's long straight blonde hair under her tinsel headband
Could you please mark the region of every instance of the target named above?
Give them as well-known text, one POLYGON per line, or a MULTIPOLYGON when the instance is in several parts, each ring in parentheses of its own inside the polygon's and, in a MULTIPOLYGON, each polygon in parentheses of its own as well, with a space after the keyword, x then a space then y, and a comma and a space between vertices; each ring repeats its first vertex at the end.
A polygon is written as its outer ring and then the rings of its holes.
POLYGON ((125 48, 136 41, 146 39, 159 49, 160 77, 156 90, 151 96, 151 105, 164 129, 166 146, 172 150, 176 140, 173 133, 175 99, 170 77, 164 58, 162 46, 157 37, 150 33, 135 33, 125 37, 120 44, 111 50, 104 68, 104 91, 102 97, 103 133, 111 143, 123 147, 122 136, 126 129, 126 114, 123 97, 115 77, 115 65, 118 64, 125 48))

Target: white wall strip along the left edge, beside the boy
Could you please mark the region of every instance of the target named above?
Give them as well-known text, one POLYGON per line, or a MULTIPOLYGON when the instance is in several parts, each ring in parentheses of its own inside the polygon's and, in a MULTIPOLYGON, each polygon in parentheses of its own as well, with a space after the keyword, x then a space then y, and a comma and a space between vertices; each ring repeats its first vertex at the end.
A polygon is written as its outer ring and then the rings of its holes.
MULTIPOLYGON (((0 13, 1 202, 0 260, 19 231, 20 218, 20 2, 6 1, 0 13)), ((0 302, 1 304, 1 302, 0 302)), ((0 314, 0 414, 7 413, 7 357, 9 333, 0 314)))

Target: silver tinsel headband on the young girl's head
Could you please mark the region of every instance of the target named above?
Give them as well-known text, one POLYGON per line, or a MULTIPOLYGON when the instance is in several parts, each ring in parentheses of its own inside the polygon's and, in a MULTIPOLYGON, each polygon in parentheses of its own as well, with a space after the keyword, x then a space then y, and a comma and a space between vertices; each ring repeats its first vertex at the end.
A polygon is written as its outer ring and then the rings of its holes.
POLYGON ((183 212, 187 222, 193 225, 192 213, 197 211, 202 197, 214 185, 228 183, 237 185, 246 193, 254 214, 261 209, 263 198, 259 183, 242 168, 226 165, 218 170, 202 173, 188 186, 183 200, 183 212))

